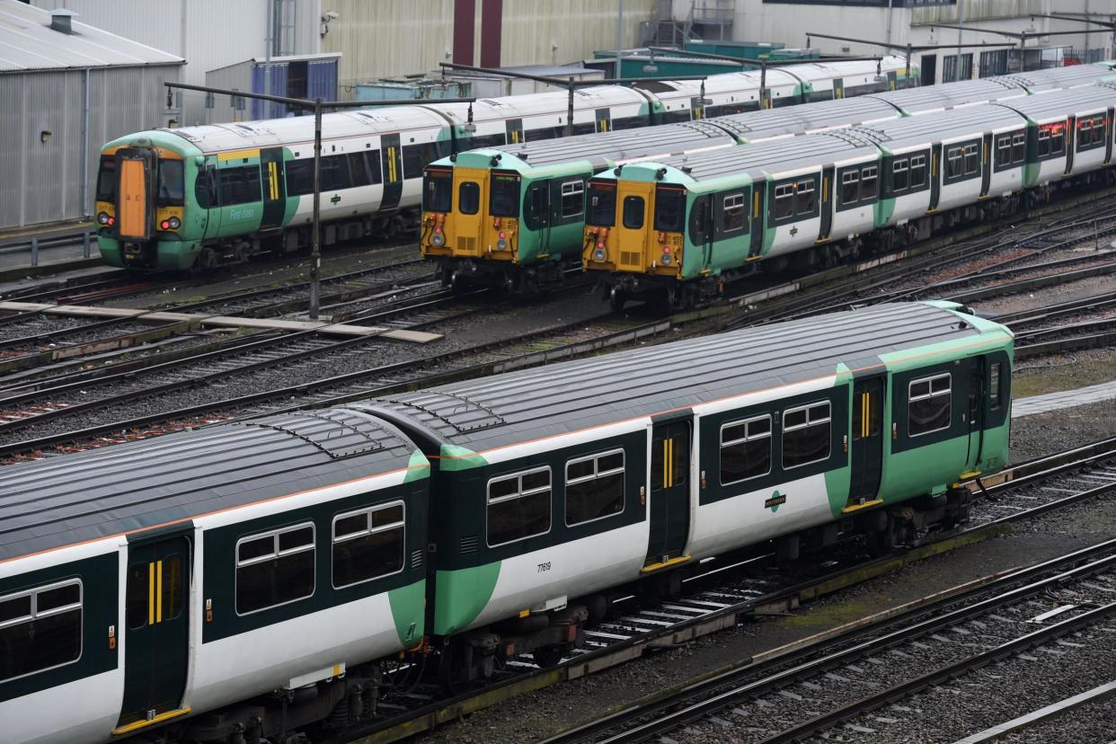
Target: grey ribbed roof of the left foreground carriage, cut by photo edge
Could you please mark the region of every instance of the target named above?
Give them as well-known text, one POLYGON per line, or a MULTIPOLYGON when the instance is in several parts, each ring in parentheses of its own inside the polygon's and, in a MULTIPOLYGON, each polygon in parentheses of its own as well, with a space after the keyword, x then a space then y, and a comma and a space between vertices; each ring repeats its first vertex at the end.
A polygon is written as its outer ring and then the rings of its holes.
POLYGON ((9 465, 0 561, 406 468, 414 453, 391 425, 335 408, 9 465))

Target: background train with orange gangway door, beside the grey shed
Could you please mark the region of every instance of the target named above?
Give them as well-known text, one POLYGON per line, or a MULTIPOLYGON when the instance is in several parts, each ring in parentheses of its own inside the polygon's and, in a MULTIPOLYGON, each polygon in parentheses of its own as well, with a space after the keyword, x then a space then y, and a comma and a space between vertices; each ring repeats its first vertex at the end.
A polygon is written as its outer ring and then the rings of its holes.
MULTIPOLYGON (((321 242, 392 238, 416 222, 423 167, 508 143, 700 119, 840 98, 917 80, 902 58, 805 62, 696 80, 588 86, 416 103, 323 117, 321 242), (761 83, 763 84, 761 86, 761 83), (704 95, 704 97, 702 97, 704 95)), ((100 254, 137 270, 206 270, 309 245, 314 122, 291 117, 158 128, 104 145, 95 214, 100 254)))

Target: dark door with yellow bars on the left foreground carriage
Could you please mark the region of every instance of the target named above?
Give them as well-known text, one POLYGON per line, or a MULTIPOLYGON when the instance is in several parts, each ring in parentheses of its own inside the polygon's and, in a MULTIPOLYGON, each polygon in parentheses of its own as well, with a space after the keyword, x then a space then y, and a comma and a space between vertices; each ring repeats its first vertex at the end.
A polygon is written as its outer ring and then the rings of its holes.
POLYGON ((124 587, 124 700, 114 735, 190 712, 191 541, 186 534, 128 541, 124 587))

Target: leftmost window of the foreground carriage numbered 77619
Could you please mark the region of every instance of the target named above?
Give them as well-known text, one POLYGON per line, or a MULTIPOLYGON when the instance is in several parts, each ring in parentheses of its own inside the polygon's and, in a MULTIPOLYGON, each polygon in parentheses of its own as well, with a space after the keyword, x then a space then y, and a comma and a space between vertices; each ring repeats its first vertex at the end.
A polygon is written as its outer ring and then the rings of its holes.
POLYGON ((501 475, 488 485, 488 544, 523 540, 550 531, 550 468, 501 475))

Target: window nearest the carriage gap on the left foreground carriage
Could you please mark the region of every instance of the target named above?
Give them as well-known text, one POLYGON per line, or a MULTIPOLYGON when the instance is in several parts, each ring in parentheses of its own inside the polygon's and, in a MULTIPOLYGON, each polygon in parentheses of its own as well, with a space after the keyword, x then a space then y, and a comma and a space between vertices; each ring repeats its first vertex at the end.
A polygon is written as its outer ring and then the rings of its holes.
POLYGON ((403 570, 404 510, 397 501, 334 518, 334 589, 403 570))

